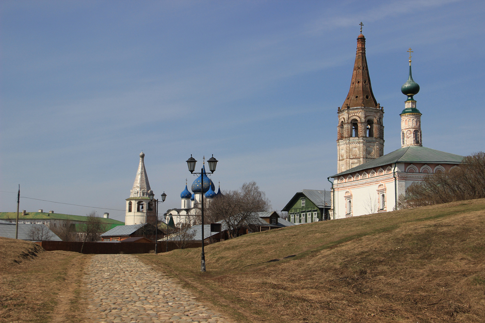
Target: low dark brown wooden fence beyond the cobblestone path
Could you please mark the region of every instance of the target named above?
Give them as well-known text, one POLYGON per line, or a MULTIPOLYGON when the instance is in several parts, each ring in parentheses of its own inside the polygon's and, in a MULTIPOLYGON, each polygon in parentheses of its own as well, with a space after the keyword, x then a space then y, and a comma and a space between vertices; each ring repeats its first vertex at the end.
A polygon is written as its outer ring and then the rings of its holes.
MULTIPOLYGON (((64 250, 81 252, 82 242, 70 241, 38 241, 36 242, 46 251, 64 250)), ((187 248, 199 248, 200 242, 190 243, 187 248)), ((168 242, 168 251, 178 249, 175 242, 168 242)), ((167 250, 166 242, 159 242, 157 252, 162 253, 167 250)), ((150 253, 155 251, 155 243, 137 243, 137 242, 86 242, 82 247, 82 253, 85 254, 119 254, 119 253, 150 253)))

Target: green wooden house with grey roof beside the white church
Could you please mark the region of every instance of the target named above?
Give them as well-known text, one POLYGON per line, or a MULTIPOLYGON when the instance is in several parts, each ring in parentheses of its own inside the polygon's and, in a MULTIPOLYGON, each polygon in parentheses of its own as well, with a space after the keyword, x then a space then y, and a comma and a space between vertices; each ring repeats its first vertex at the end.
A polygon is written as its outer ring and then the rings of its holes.
POLYGON ((288 221, 294 224, 329 220, 330 191, 304 189, 297 192, 282 211, 288 212, 288 221))

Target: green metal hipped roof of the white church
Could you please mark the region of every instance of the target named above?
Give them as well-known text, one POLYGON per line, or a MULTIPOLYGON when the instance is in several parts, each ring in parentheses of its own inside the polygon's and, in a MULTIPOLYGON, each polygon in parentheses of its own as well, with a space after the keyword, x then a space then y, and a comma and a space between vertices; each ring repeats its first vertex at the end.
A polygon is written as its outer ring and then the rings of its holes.
POLYGON ((347 169, 330 177, 354 173, 356 171, 370 169, 380 166, 385 166, 393 163, 434 163, 434 164, 459 164, 463 160, 463 156, 441 152, 439 150, 420 147, 409 146, 395 150, 382 157, 371 160, 370 162, 347 169))

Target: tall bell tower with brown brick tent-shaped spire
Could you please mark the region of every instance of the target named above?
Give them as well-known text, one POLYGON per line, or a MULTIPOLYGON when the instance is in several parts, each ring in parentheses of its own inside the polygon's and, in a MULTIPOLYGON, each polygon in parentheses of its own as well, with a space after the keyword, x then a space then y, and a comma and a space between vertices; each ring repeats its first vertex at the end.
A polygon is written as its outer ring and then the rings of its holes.
POLYGON ((349 94, 338 109, 338 172, 367 163, 384 154, 384 107, 374 98, 365 56, 365 38, 357 37, 356 62, 349 94))

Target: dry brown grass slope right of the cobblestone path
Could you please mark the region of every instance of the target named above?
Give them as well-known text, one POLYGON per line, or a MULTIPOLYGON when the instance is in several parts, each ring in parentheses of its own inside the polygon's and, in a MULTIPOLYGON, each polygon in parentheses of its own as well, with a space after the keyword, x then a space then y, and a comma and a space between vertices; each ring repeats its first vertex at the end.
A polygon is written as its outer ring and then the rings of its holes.
POLYGON ((239 322, 484 322, 485 200, 143 255, 239 322))

